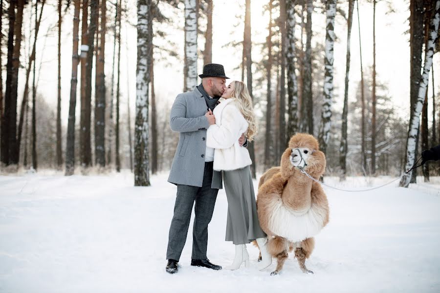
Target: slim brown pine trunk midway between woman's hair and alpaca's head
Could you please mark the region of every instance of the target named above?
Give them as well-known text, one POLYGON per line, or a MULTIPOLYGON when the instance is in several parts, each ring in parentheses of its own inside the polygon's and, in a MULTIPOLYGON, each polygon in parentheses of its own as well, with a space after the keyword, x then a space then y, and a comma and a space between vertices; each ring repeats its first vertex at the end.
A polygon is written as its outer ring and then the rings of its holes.
POLYGON ((266 105, 266 133, 264 143, 264 168, 267 169, 270 166, 270 145, 272 140, 270 138, 271 130, 271 118, 272 118, 272 0, 269 0, 269 35, 266 38, 267 43, 267 65, 266 65, 266 79, 267 79, 267 105, 266 105))

